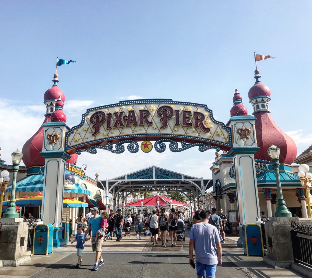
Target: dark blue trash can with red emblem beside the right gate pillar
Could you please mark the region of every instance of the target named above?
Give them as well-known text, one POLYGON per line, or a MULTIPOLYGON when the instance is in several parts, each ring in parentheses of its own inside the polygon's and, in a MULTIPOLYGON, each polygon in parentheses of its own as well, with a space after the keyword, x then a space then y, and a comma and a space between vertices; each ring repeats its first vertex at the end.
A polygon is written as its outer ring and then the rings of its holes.
POLYGON ((258 224, 242 226, 244 254, 247 256, 264 256, 261 227, 258 224))

